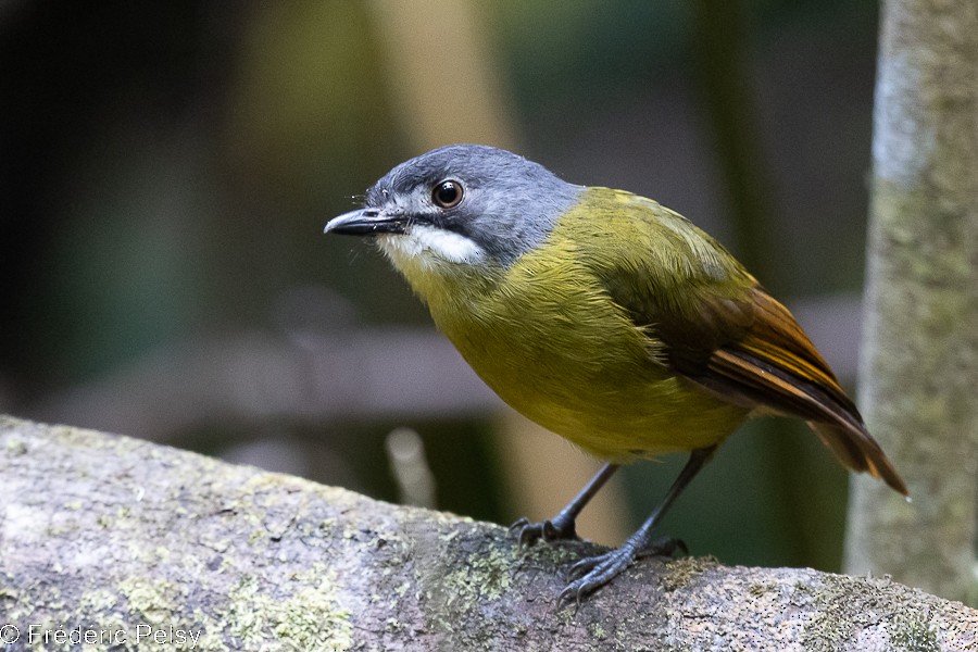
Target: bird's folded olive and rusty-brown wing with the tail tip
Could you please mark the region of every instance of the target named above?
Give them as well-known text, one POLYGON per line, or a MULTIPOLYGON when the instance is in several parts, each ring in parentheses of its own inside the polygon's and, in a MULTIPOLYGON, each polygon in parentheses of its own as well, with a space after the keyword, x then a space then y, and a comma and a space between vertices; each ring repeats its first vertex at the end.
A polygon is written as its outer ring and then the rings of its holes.
POLYGON ((640 256, 636 247, 642 238, 635 238, 617 259, 625 264, 604 266, 602 280, 632 322, 661 342, 655 348, 660 361, 725 400, 804 418, 845 466, 906 494, 858 410, 788 309, 720 244, 681 216, 655 208, 662 211, 657 220, 674 221, 655 235, 672 237, 682 229, 682 237, 670 242, 669 258, 640 256))

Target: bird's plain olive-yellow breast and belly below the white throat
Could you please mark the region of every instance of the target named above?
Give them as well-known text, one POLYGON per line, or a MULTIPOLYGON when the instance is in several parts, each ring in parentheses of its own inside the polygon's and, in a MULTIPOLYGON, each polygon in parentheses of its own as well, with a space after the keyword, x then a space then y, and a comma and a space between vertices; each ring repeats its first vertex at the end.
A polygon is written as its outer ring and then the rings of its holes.
POLYGON ((614 462, 718 443, 747 417, 669 372, 591 279, 562 269, 561 283, 547 283, 526 258, 504 293, 428 301, 439 328, 517 412, 614 462))

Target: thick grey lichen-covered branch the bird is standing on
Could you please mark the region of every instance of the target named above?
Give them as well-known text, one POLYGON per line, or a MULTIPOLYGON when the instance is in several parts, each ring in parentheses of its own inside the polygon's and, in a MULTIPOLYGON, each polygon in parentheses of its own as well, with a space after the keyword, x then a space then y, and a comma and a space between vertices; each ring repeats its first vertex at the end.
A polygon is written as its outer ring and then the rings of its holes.
POLYGON ((592 546, 519 551, 496 525, 92 430, 0 417, 0 478, 7 650, 978 644, 978 612, 886 578, 697 557, 559 607, 592 546))

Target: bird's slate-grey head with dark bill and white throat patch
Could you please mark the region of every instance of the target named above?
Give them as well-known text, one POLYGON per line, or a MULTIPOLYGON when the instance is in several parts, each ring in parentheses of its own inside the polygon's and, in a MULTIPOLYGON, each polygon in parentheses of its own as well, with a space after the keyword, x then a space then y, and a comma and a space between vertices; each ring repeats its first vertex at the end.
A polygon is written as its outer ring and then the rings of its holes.
POLYGON ((452 145, 401 163, 367 190, 364 208, 326 233, 376 236, 394 264, 511 265, 573 206, 581 186, 481 145, 452 145))

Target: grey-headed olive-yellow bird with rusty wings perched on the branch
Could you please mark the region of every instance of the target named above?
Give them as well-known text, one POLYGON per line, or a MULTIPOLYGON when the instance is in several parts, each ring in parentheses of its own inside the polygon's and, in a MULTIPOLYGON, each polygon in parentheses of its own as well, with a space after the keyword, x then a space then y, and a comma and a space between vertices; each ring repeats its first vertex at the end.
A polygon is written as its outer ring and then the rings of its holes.
POLYGON ((559 599, 670 554, 663 514, 744 421, 807 422, 839 462, 907 488, 792 314, 719 242, 644 197, 564 181, 485 145, 405 161, 326 234, 376 242, 478 376, 524 416, 604 461, 522 546, 576 538, 575 521, 623 464, 687 453, 648 519, 585 557, 559 599))

